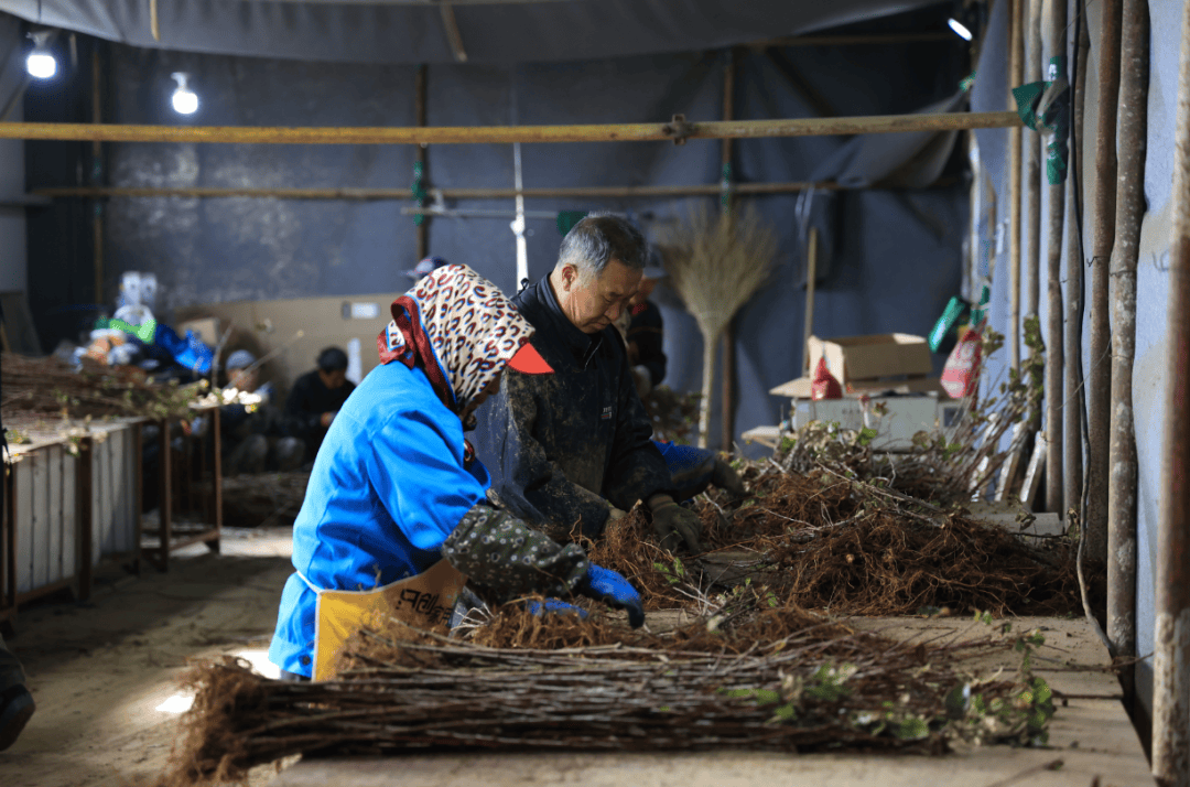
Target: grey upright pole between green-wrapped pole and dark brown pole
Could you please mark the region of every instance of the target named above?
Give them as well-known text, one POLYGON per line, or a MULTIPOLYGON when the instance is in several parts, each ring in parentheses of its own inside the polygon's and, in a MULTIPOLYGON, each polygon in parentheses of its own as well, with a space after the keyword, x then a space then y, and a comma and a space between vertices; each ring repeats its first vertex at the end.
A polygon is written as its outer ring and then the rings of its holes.
MULTIPOLYGON (((1075 0, 1081 2, 1081 0, 1075 0)), ((1082 516, 1083 501, 1083 238, 1079 187, 1083 175, 1083 118, 1086 104, 1086 54, 1090 33, 1085 13, 1077 11, 1075 26, 1073 112, 1070 120, 1070 171, 1066 174, 1066 388, 1063 395, 1063 435, 1066 439, 1066 506, 1082 516)), ((1079 519, 1079 523, 1083 520, 1079 519)))

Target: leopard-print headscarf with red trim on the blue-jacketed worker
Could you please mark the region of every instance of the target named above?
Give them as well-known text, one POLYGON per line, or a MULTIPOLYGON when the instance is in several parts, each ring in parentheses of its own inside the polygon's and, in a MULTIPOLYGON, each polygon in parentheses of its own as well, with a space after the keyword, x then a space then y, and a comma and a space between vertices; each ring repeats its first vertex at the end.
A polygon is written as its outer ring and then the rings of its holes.
POLYGON ((533 326, 500 288, 466 266, 446 266, 393 301, 376 337, 381 363, 420 367, 443 404, 461 412, 496 377, 533 326))

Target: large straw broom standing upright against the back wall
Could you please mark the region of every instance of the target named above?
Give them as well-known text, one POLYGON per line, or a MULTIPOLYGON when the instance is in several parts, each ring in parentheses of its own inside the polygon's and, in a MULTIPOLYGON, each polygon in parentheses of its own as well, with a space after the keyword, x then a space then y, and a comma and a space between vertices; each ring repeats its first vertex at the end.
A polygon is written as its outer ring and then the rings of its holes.
POLYGON ((691 208, 684 221, 657 235, 671 286, 702 332, 699 448, 707 448, 715 346, 727 324, 769 277, 777 236, 752 206, 719 213, 706 205, 691 208))

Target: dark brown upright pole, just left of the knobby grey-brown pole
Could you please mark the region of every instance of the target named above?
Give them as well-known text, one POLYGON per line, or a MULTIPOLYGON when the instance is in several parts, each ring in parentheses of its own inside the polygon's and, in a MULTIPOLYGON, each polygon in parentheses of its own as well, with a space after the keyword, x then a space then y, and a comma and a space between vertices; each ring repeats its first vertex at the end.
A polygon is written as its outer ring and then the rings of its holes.
POLYGON ((1120 96, 1122 0, 1102 0, 1098 125, 1095 133, 1095 193, 1091 198, 1090 356, 1086 370, 1086 552, 1108 560, 1108 445, 1111 427, 1111 324, 1109 268, 1115 243, 1116 102, 1120 96))

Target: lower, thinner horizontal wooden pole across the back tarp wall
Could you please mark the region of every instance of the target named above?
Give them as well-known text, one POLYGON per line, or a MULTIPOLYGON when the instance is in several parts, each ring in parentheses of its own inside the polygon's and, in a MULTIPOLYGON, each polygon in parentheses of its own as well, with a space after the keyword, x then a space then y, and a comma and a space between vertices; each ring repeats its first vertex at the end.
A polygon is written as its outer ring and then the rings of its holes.
MULTIPOLYGON (((784 183, 738 183, 732 187, 734 194, 791 194, 809 188, 820 190, 839 190, 838 183, 822 181, 793 181, 784 183)), ((566 188, 432 188, 430 196, 443 199, 515 199, 518 194, 525 199, 619 199, 633 196, 718 196, 722 187, 710 186, 580 186, 566 188)), ((178 196, 178 198, 273 198, 283 200, 408 200, 413 194, 408 188, 221 188, 221 187, 124 187, 124 186, 64 186, 60 188, 39 188, 33 192, 36 198, 143 198, 143 196, 178 196)), ((37 202, 38 205, 43 202, 37 202)))

